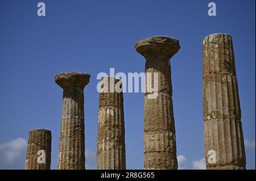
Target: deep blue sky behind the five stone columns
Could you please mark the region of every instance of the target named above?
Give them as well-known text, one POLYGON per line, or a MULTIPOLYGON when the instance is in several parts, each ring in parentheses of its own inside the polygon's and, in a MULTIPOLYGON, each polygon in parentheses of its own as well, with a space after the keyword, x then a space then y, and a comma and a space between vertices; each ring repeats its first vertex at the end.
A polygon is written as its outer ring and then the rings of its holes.
MULTIPOLYGON (((0 169, 23 169, 26 145, 14 143, 34 128, 52 131, 56 169, 63 90, 54 77, 67 71, 91 75, 84 90, 86 165, 96 167, 96 76, 110 68, 144 71, 144 57, 134 44, 156 35, 180 40, 171 59, 177 155, 186 158, 184 168, 193 169, 204 157, 202 41, 217 32, 233 36, 247 168, 255 169, 254 0, 42 0, 45 17, 36 14, 38 2, 0 1, 0 169), (208 16, 209 2, 216 3, 217 16, 208 16), (16 160, 4 158, 10 153, 16 160)), ((143 169, 143 93, 123 96, 127 169, 143 169)))

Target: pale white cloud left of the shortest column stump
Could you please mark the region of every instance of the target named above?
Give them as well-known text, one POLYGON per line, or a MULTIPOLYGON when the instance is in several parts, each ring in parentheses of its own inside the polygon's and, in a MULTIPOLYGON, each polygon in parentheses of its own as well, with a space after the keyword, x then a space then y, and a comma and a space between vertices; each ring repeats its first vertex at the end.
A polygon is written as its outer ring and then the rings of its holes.
POLYGON ((0 143, 0 169, 24 169, 27 140, 16 138, 0 143))

